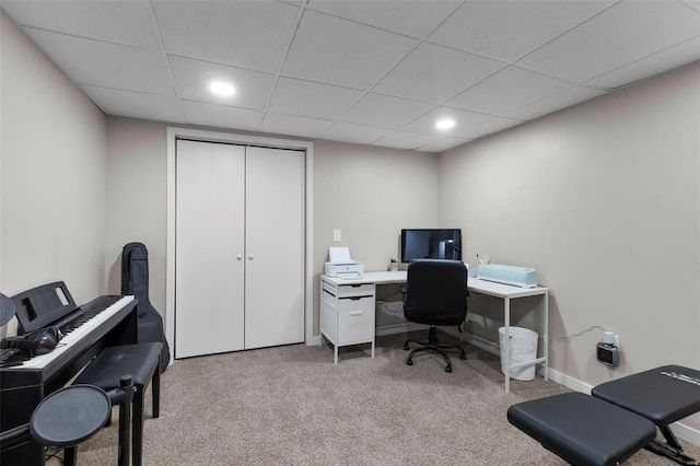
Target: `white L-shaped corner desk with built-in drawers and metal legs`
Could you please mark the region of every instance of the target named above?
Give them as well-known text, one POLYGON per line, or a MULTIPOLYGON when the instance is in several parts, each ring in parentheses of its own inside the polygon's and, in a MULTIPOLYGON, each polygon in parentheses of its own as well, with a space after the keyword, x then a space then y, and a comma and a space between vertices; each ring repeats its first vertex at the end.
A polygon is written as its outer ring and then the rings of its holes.
MULTIPOLYGON (((360 278, 345 279, 320 276, 320 333, 335 346, 335 363, 338 347, 371 343, 374 358, 374 306, 377 284, 406 283, 406 271, 365 272, 360 278)), ((504 352, 510 354, 511 300, 541 296, 542 300, 542 357, 517 364, 511 370, 541 364, 545 380, 549 380, 549 289, 544 287, 520 288, 469 277, 469 291, 503 300, 504 352)), ((323 345, 323 338, 322 338, 323 345)), ((505 374, 505 391, 511 391, 510 371, 505 374)))

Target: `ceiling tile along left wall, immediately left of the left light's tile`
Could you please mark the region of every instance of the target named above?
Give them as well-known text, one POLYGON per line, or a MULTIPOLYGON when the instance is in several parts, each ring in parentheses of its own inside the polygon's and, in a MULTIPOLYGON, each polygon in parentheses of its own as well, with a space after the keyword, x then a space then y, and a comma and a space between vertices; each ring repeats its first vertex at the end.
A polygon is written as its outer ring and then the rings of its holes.
POLYGON ((24 32, 78 84, 175 95, 161 54, 25 27, 24 32))

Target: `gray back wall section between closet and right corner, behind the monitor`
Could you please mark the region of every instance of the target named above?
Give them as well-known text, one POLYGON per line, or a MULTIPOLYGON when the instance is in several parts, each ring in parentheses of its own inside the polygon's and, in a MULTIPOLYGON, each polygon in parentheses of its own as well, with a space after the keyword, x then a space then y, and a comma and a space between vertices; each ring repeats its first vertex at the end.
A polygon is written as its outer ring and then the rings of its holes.
MULTIPOLYGON (((401 228, 438 226, 438 156, 366 145, 314 144, 314 271, 323 273, 328 247, 348 246, 365 270, 387 270, 399 258, 401 228), (332 242, 332 231, 342 233, 332 242)), ((318 279, 314 331, 318 334, 318 279)), ((384 287, 388 288, 388 287, 384 287)), ((392 287, 395 288, 395 287, 392 287)), ((392 301, 396 289, 380 290, 392 301)), ((377 324, 396 318, 377 307, 377 324)), ((401 319, 401 322, 404 322, 401 319)))

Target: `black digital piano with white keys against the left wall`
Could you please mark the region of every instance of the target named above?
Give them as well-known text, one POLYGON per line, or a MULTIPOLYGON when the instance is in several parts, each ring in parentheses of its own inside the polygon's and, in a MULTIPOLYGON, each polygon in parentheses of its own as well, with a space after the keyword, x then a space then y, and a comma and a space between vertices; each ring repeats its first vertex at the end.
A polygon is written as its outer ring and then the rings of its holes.
MULTIPOLYGON (((27 293, 33 290, 12 298, 18 303, 20 326, 24 321, 24 325, 31 328, 27 318, 32 315, 35 318, 44 317, 50 323, 48 326, 58 326, 65 336, 52 351, 27 357, 5 366, 1 366, 0 354, 0 435, 27 423, 42 399, 68 384, 103 348, 137 342, 138 315, 133 296, 100 296, 78 307, 62 282, 39 288, 44 292, 47 289, 59 290, 59 306, 74 308, 68 314, 61 312, 58 319, 50 319, 47 317, 50 312, 32 308, 27 293), (31 315, 27 317, 27 314, 31 315)), ((47 302, 50 304, 48 307, 57 307, 50 299, 34 300, 35 307, 47 302)), ((3 466, 45 464, 44 448, 28 436, 0 442, 0 464, 3 466)))

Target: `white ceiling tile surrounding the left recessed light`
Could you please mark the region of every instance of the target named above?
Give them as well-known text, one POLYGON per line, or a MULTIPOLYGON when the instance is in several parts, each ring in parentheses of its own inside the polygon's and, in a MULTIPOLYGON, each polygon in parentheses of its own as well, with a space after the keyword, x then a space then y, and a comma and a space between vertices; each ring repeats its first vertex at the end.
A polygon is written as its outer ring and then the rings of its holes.
POLYGON ((272 74, 259 71, 180 57, 170 57, 170 61, 177 94, 189 101, 261 110, 275 83, 272 74), (214 95, 209 91, 212 81, 230 82, 236 93, 228 97, 214 95))

